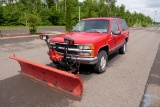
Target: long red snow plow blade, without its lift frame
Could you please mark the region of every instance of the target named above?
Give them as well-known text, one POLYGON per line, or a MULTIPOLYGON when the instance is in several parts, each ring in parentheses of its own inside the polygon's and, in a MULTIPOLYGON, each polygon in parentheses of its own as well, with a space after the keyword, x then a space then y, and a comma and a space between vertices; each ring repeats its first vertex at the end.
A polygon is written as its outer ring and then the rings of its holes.
POLYGON ((22 74, 52 87, 51 89, 61 94, 76 98, 76 100, 82 98, 83 83, 78 75, 15 56, 10 56, 10 58, 19 62, 22 74))

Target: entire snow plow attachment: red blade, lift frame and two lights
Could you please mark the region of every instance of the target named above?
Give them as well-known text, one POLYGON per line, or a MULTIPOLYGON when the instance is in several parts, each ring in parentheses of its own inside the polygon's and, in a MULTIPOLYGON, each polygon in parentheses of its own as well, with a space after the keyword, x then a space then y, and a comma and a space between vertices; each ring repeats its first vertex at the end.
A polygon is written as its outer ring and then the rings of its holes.
MULTIPOLYGON (((78 66, 77 63, 66 59, 68 47, 64 49, 64 52, 66 53, 62 56, 50 46, 48 36, 40 35, 40 39, 46 41, 50 52, 50 59, 57 62, 60 69, 18 58, 15 55, 10 56, 10 58, 18 61, 21 67, 21 74, 46 84, 56 92, 62 93, 74 99, 76 98, 76 100, 81 100, 83 83, 79 75, 70 72, 70 70, 73 70, 74 68, 77 70, 78 66), (72 65, 68 66, 69 64, 72 65), (66 65, 68 67, 66 67, 66 65)), ((66 38, 64 41, 69 45, 74 44, 74 41, 70 38, 66 38)))

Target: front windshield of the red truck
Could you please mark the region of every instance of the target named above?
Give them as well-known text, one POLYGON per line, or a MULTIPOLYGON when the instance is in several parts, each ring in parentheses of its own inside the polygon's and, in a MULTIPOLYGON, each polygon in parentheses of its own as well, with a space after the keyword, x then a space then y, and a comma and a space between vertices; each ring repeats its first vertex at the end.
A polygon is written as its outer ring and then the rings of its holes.
POLYGON ((82 20, 72 31, 77 32, 108 32, 109 20, 82 20))

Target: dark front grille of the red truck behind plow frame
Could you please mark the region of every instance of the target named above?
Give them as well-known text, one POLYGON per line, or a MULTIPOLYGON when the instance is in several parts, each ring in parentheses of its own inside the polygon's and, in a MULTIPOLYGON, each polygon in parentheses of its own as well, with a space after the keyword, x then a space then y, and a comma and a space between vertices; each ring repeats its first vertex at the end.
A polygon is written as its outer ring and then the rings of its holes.
MULTIPOLYGON (((55 43, 55 45, 56 45, 56 47, 59 47, 59 49, 56 49, 57 52, 64 53, 63 49, 67 46, 67 44, 64 44, 64 43, 55 43)), ((68 48, 78 49, 78 45, 70 45, 68 48)), ((69 55, 78 55, 78 52, 68 51, 67 54, 69 54, 69 55)))

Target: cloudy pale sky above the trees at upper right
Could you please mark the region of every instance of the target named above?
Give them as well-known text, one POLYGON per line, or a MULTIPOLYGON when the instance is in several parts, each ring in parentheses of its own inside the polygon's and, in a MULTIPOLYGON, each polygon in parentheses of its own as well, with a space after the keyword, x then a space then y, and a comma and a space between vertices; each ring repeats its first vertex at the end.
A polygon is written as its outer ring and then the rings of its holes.
POLYGON ((117 0, 116 4, 119 6, 124 4, 126 9, 130 12, 141 12, 145 15, 149 15, 153 21, 155 19, 155 21, 160 22, 160 0, 117 0))

